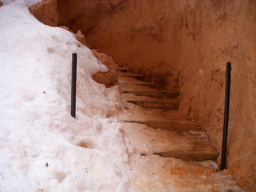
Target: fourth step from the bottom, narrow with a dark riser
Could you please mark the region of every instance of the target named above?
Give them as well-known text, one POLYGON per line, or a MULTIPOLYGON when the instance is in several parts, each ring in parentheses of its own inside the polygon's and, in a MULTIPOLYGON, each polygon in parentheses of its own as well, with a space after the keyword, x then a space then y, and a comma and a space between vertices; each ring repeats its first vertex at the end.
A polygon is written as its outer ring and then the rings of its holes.
POLYGON ((156 90, 142 85, 120 85, 123 94, 135 94, 137 96, 147 96, 151 98, 177 98, 178 91, 173 90, 156 90))

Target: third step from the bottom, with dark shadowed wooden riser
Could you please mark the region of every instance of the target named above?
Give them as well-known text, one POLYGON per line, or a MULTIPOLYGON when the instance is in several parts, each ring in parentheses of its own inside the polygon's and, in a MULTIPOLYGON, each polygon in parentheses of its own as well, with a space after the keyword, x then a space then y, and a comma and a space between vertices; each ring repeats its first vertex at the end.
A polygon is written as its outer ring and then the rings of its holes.
POLYGON ((178 110, 179 101, 177 99, 150 98, 136 96, 134 94, 122 94, 122 99, 126 102, 134 103, 144 108, 156 108, 162 110, 178 110))

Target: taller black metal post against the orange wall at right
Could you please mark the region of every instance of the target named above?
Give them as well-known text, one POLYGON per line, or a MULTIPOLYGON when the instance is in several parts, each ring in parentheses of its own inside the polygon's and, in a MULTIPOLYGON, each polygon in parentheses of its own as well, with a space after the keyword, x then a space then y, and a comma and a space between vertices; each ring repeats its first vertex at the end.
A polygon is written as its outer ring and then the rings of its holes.
POLYGON ((226 94, 225 94, 225 111, 224 111, 224 126, 223 126, 223 138, 222 138, 222 162, 221 170, 226 169, 226 142, 229 126, 229 112, 230 112, 230 74, 231 74, 231 62, 226 63, 226 94))

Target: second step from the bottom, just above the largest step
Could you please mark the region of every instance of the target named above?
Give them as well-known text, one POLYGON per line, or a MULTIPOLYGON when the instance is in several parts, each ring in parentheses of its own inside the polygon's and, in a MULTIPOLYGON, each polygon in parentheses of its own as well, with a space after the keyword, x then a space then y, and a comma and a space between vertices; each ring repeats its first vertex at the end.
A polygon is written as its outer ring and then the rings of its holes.
MULTIPOLYGON (((191 122, 184 118, 177 118, 174 115, 170 115, 170 118, 163 117, 159 111, 153 109, 143 110, 131 110, 130 113, 120 112, 118 114, 118 120, 121 122, 132 122, 138 124, 144 124, 154 129, 186 131, 186 130, 200 130, 197 122, 191 122), (150 110, 150 111, 145 111, 150 110), (152 113, 149 113, 152 112, 152 113), (148 113, 148 114, 146 114, 148 113)), ((129 110, 128 110, 129 111, 129 110)))

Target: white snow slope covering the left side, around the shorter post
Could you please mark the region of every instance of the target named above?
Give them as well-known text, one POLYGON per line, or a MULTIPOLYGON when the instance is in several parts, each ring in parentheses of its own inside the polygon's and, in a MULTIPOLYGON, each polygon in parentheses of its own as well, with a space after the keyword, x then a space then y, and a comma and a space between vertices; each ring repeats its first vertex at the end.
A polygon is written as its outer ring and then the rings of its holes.
POLYGON ((38 22, 27 8, 38 0, 2 2, 0 191, 126 191, 128 156, 114 118, 118 89, 91 78, 106 66, 74 34, 38 22), (72 53, 78 54, 76 119, 72 53))

